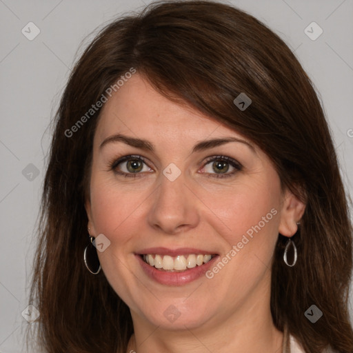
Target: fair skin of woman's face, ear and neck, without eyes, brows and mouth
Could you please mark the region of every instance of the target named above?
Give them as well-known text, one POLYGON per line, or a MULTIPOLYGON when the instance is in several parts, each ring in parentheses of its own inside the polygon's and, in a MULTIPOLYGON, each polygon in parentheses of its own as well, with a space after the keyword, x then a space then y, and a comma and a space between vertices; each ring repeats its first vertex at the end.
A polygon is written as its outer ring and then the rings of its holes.
MULTIPOLYGON (((110 240, 98 252, 101 268, 130 307, 134 335, 127 352, 281 352, 283 334, 270 313, 270 266, 279 232, 295 234, 305 205, 289 191, 281 192, 270 159, 253 143, 254 151, 231 142, 192 153, 198 141, 220 137, 248 141, 223 123, 161 96, 139 73, 101 112, 85 208, 90 234, 110 240), (121 141, 99 148, 117 133, 146 139, 155 150, 121 141), (110 169, 110 161, 129 154, 145 157, 136 179, 110 169), (217 155, 235 159, 242 170, 228 178, 212 177, 216 168, 205 160, 217 155), (163 175, 170 163, 181 170, 175 181, 163 175), (161 285, 145 275, 134 256, 143 248, 163 246, 206 248, 222 258, 273 208, 276 216, 212 279, 161 285), (180 312, 174 322, 163 315, 170 305, 180 312)), ((223 174, 234 170, 228 166, 223 174)), ((128 172, 126 161, 116 170, 128 172)))

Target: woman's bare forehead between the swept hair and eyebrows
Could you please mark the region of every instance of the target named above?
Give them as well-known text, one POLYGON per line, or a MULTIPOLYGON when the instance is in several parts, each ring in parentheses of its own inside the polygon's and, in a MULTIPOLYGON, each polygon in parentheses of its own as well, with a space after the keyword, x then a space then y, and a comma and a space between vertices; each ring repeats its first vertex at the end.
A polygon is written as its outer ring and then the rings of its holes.
POLYGON ((170 142, 188 138, 196 141, 211 134, 212 137, 241 137, 224 123, 170 101, 138 73, 114 92, 101 110, 96 139, 103 141, 117 132, 170 142))

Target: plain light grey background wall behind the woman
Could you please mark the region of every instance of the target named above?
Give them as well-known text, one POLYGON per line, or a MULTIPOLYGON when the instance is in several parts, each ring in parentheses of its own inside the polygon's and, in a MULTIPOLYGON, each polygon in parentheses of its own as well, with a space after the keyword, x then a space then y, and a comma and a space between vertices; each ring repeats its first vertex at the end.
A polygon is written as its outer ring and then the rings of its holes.
MULTIPOLYGON (((353 0, 229 3, 266 23, 295 51, 321 94, 352 195, 353 0), (315 41, 304 32, 312 21, 323 29, 315 41)), ((28 305, 48 124, 70 68, 93 38, 85 39, 88 34, 141 6, 142 0, 0 0, 0 352, 24 352, 23 332, 30 324, 21 312, 28 305), (41 31, 32 41, 21 32, 30 21, 41 31)))

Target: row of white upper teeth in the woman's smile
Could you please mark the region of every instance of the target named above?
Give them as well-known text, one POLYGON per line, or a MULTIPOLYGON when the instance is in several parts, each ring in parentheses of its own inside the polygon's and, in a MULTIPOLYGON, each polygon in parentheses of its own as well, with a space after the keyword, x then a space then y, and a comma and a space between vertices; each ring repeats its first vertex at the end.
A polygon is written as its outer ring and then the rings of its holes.
POLYGON ((208 263, 208 261, 212 259, 212 255, 189 254, 185 256, 178 255, 172 257, 169 255, 147 254, 143 255, 143 260, 155 268, 183 271, 187 268, 194 268, 196 265, 201 266, 203 263, 208 263))

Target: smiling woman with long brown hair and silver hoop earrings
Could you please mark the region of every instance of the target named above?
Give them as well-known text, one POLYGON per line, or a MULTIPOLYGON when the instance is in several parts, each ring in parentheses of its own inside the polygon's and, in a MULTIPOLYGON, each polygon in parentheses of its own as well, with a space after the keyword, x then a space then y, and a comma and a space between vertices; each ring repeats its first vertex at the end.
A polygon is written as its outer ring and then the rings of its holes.
POLYGON ((42 210, 46 352, 353 352, 327 121, 241 10, 159 2, 101 30, 63 93, 42 210))

